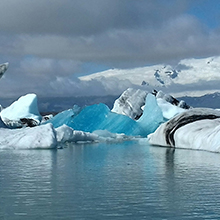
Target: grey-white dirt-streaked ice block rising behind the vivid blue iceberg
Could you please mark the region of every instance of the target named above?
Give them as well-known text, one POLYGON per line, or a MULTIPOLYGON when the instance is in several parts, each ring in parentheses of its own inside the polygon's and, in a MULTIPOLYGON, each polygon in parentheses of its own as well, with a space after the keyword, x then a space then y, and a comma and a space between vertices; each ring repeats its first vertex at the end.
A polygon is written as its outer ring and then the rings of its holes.
POLYGON ((147 92, 128 88, 115 100, 112 112, 138 119, 143 113, 141 107, 145 104, 147 92))

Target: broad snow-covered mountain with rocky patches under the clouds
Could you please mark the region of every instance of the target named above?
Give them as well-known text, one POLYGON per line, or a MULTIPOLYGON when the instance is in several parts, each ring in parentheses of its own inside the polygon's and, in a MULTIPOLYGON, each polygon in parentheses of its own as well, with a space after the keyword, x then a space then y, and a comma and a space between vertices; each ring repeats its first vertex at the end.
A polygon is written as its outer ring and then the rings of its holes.
POLYGON ((129 80, 136 86, 155 87, 175 96, 204 95, 220 91, 220 56, 184 59, 172 66, 159 64, 133 69, 109 69, 79 78, 101 80, 103 77, 129 80))

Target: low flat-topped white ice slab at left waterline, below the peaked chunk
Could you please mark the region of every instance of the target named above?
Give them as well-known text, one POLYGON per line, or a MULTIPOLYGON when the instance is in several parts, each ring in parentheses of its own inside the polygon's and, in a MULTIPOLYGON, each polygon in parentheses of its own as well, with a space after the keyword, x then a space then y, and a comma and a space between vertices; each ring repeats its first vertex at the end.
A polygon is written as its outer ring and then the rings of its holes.
POLYGON ((55 148, 56 133, 51 124, 34 128, 0 128, 0 149, 55 148))

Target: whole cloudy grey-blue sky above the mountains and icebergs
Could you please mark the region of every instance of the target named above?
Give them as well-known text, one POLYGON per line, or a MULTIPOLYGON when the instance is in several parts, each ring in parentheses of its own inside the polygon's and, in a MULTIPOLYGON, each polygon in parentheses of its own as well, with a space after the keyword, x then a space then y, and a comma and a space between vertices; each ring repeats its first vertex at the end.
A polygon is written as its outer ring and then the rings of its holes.
POLYGON ((1 0, 0 97, 119 94, 78 77, 219 56, 219 20, 219 0, 1 0))

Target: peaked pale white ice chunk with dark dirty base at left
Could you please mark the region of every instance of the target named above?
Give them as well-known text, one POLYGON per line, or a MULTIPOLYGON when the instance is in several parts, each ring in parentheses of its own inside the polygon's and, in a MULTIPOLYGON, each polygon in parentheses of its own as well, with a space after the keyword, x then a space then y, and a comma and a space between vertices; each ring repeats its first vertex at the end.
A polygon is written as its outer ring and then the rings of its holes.
POLYGON ((9 107, 0 112, 5 125, 9 128, 20 128, 23 126, 35 126, 41 121, 42 116, 37 106, 37 96, 27 94, 13 102, 9 107))

